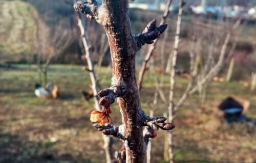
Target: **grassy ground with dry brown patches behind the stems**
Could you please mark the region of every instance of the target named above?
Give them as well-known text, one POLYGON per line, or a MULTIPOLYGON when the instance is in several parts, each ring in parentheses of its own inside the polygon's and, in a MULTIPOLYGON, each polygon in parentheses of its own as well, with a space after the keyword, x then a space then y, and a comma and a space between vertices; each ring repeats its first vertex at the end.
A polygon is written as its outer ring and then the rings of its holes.
MULTIPOLYGON (((102 88, 108 87, 111 69, 102 68, 99 76, 102 88)), ((168 79, 166 75, 166 96, 168 79)), ((88 72, 81 66, 52 65, 49 80, 60 87, 60 99, 35 97, 36 66, 0 69, 0 162, 105 162, 101 133, 90 122, 93 100, 84 100, 80 93, 89 90, 88 72)), ((186 79, 178 77, 177 97, 186 83, 186 79)), ((154 80, 147 73, 141 92, 147 114, 154 90, 154 80)), ((226 96, 244 97, 251 101, 248 117, 256 119, 255 94, 239 82, 231 82, 211 84, 202 105, 197 94, 190 97, 175 119, 176 162, 255 162, 255 129, 246 124, 223 124, 217 108, 226 96)), ((159 100, 155 115, 161 116, 166 110, 159 100)), ((117 104, 111 117, 116 125, 121 123, 117 104)), ((158 131, 153 139, 152 162, 164 162, 164 133, 158 131)), ((116 140, 115 149, 120 146, 116 140)))

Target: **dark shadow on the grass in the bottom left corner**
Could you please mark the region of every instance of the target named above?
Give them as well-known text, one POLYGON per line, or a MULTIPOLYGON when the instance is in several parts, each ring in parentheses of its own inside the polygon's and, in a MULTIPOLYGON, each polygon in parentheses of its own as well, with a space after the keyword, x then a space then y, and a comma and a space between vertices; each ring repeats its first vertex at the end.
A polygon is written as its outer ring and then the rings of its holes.
POLYGON ((71 153, 58 154, 54 143, 33 143, 17 135, 0 131, 0 162, 91 162, 71 153))

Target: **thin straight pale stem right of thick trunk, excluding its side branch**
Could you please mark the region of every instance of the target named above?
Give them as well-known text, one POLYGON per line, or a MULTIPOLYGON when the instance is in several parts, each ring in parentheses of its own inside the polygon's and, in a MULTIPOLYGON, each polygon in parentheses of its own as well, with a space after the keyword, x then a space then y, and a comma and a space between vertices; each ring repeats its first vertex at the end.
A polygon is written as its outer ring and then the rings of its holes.
MULTIPOLYGON (((170 69, 170 94, 169 94, 169 122, 173 122, 174 119, 174 94, 175 94, 175 68, 178 56, 178 48, 180 42, 180 30, 181 30, 181 18, 183 12, 183 1, 179 1, 179 13, 178 13, 178 20, 177 20, 177 29, 174 41, 174 53, 172 56, 172 66, 170 69)), ((174 152, 173 152, 173 131, 168 132, 168 140, 169 140, 169 162, 174 162, 174 152)))

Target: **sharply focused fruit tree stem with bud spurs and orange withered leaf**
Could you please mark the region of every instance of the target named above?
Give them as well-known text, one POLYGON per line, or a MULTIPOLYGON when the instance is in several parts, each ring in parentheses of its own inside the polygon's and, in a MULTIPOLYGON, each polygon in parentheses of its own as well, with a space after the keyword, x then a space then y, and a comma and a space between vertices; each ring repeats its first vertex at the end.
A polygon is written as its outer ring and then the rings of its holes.
POLYGON ((112 59, 112 83, 110 88, 98 93, 101 111, 91 114, 91 121, 102 134, 113 135, 124 143, 116 153, 119 162, 143 162, 148 139, 159 128, 171 130, 175 126, 165 123, 166 118, 147 117, 141 108, 135 76, 135 55, 142 45, 152 44, 167 28, 167 24, 156 26, 156 20, 147 24, 145 30, 132 35, 127 0, 103 0, 98 6, 95 0, 78 1, 77 12, 96 19, 109 40, 112 59), (120 106, 122 124, 111 124, 111 104, 115 98, 120 106), (143 131, 144 129, 144 131, 143 131))

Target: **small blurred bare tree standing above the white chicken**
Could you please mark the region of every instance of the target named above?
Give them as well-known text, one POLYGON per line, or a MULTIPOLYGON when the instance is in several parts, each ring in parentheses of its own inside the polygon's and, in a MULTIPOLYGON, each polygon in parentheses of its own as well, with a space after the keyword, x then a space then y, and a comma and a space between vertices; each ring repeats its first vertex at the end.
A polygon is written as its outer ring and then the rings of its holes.
POLYGON ((74 33, 71 27, 60 22, 54 28, 50 28, 41 18, 36 21, 36 41, 34 52, 37 53, 37 65, 40 83, 46 86, 48 78, 48 68, 53 59, 65 50, 74 41, 74 33), (44 76, 43 82, 41 74, 44 76))

